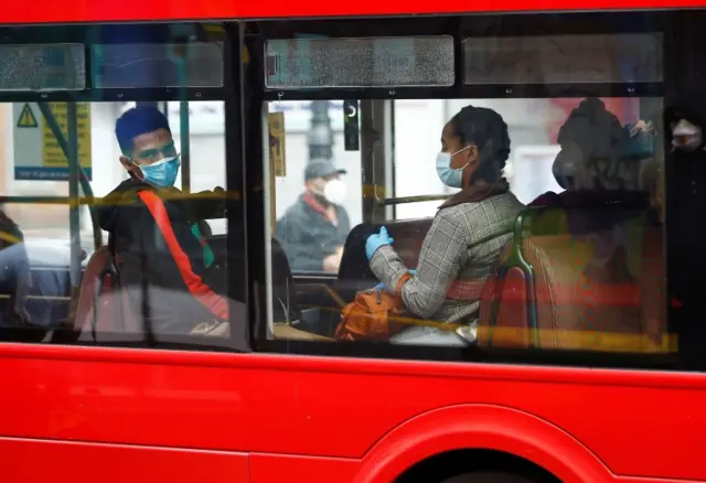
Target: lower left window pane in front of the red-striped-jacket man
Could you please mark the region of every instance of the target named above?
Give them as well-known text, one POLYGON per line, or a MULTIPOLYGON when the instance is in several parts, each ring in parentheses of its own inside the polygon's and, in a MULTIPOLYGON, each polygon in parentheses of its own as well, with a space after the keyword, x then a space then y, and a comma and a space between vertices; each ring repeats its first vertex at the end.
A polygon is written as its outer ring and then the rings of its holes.
MULTIPOLYGON (((136 110, 133 103, 90 103, 86 105, 90 116, 78 119, 78 122, 86 124, 86 135, 82 135, 81 126, 77 132, 82 167, 94 173, 90 187, 98 198, 94 206, 95 217, 92 217, 89 208, 84 206, 79 213, 79 225, 74 226, 72 230, 66 202, 45 204, 28 198, 26 203, 10 203, 2 207, 0 239, 4 242, 0 242, 0 260, 10 264, 8 260, 14 260, 12 257, 19 257, 18 260, 26 259, 29 271, 35 281, 26 299, 31 328, 56 329, 68 315, 73 280, 68 273, 74 256, 71 237, 74 233, 79 237, 83 250, 79 260, 84 273, 82 290, 96 290, 97 277, 107 267, 107 247, 104 245, 96 250, 94 245, 96 230, 101 233, 104 244, 107 244, 109 237, 116 237, 116 256, 119 260, 116 267, 122 283, 119 290, 106 289, 101 292, 98 300, 105 303, 96 304, 97 312, 93 304, 79 307, 72 326, 78 331, 81 340, 141 341, 148 328, 157 340, 188 335, 199 324, 216 320, 217 314, 214 310, 222 313, 223 307, 228 307, 229 301, 225 298, 225 270, 228 264, 235 262, 233 260, 242 254, 226 255, 225 249, 224 201, 227 193, 223 191, 223 106, 218 105, 220 108, 214 111, 201 108, 199 103, 191 105, 188 114, 191 120, 189 146, 191 158, 196 160, 192 164, 195 170, 191 180, 191 195, 181 196, 179 191, 169 187, 172 180, 162 179, 159 173, 149 171, 150 162, 154 161, 150 155, 151 151, 159 151, 158 157, 162 158, 167 154, 172 155, 172 150, 175 154, 183 155, 179 109, 175 116, 172 111, 172 116, 165 117, 154 107, 140 106, 136 110), (125 142, 122 148, 116 141, 115 135, 116 121, 121 117, 127 122, 118 129, 125 133, 121 135, 125 142), (169 120, 173 126, 172 135, 163 130, 169 120), (83 146, 82 140, 93 142, 83 146), (120 161, 125 155, 130 157, 140 170, 145 170, 141 171, 143 174, 150 173, 148 176, 153 176, 149 178, 153 179, 150 182, 167 183, 164 186, 158 184, 160 189, 157 193, 159 200, 169 200, 169 204, 162 206, 168 206, 165 213, 171 235, 156 223, 154 216, 159 214, 148 210, 147 202, 137 194, 145 190, 151 192, 151 189, 148 190, 149 185, 128 180, 125 165, 120 161), (191 215, 186 216, 186 213, 191 215), (12 221, 12 226, 17 225, 19 237, 23 239, 19 245, 10 243, 10 238, 3 235, 9 232, 2 225, 6 219, 3 216, 12 221), (135 238, 139 233, 133 229, 137 226, 141 227, 139 232, 142 233, 139 240, 135 238), (150 236, 143 238, 146 233, 150 236), (143 246, 146 239, 148 242, 143 246), (7 246, 2 245, 3 243, 7 243, 7 246), (175 260, 179 260, 180 256, 175 256, 173 250, 183 253, 190 260, 189 266, 182 266, 183 262, 179 265, 175 260), (2 258, 3 256, 6 258, 2 258), (206 301, 201 299, 201 296, 192 293, 190 283, 193 285, 193 280, 184 277, 197 277, 197 283, 204 287, 206 293, 212 293, 211 300, 206 301), (147 281, 149 282, 145 283, 147 281), (125 302, 124 296, 127 297, 125 302), (94 314, 97 314, 95 319, 94 314), (94 323, 97 324, 95 332, 92 326, 94 323)), ((2 192, 11 196, 66 196, 68 165, 65 158, 63 161, 56 161, 55 155, 55 151, 62 155, 63 151, 56 141, 44 132, 46 119, 35 105, 30 104, 38 126, 18 127, 18 119, 24 106, 0 105, 0 124, 3 127, 3 137, 9 141, 4 143, 4 149, 0 150, 0 158, 6 165, 6 174, 0 180, 2 192), (34 141, 31 139, 32 136, 36 138, 34 141)), ((57 122, 64 125, 66 119, 65 116, 62 119, 62 114, 65 115, 65 107, 66 104, 63 104, 62 108, 51 106, 57 122)), ((181 187, 182 171, 183 163, 173 180, 174 186, 181 187)), ((163 203, 159 200, 154 205, 157 207, 163 203)), ((7 293, 13 294, 15 289, 12 286, 12 277, 15 275, 9 271, 3 273, 0 273, 0 287, 7 282, 7 293), (2 277, 8 280, 3 280, 2 277)), ((244 313, 240 316, 244 316, 244 313)), ((0 318, 0 326, 2 324, 12 326, 14 322, 0 318)), ((194 337, 197 344, 226 344, 227 334, 221 335, 213 341, 204 340, 201 333, 194 337)))

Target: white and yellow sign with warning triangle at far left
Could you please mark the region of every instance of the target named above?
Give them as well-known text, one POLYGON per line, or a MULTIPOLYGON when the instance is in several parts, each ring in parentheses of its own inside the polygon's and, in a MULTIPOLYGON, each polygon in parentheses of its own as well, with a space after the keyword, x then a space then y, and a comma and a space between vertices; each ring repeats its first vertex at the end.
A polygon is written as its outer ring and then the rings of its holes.
MULTIPOLYGON (((66 103, 50 103, 66 137, 66 103)), ((67 181, 68 160, 36 103, 13 104, 14 179, 67 181)), ((76 104, 78 162, 90 180, 90 105, 76 104)), ((68 141, 68 140, 67 140, 68 141)))

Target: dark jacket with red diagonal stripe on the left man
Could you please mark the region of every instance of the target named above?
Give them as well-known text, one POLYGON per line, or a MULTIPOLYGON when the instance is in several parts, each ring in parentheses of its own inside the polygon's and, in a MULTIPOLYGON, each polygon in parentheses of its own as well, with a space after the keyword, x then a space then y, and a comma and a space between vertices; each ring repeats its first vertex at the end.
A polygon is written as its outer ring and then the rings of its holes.
POLYGON ((133 313, 154 333, 185 333, 228 316, 225 288, 214 283, 224 278, 213 273, 213 253, 196 228, 211 217, 206 212, 214 202, 186 202, 180 195, 176 189, 128 180, 98 207, 133 313))

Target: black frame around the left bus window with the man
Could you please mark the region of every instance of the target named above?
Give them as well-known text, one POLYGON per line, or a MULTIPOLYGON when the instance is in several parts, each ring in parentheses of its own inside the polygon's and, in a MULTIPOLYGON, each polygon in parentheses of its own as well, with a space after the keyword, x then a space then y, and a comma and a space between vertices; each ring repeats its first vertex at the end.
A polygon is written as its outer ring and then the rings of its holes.
MULTIPOLYGON (((223 40, 223 73, 224 80, 221 87, 207 87, 207 88, 194 88, 194 87, 164 87, 164 88, 93 88, 90 84, 90 55, 89 50, 92 44, 126 44, 130 43, 129 40, 121 39, 118 41, 100 41, 94 42, 92 39, 96 39, 100 34, 103 24, 75 24, 75 25, 31 25, 31 26, 8 26, 6 30, 10 33, 0 37, 0 44, 46 44, 60 42, 53 39, 53 34, 61 35, 61 42, 65 42, 69 39, 73 42, 82 43, 86 49, 86 75, 88 76, 87 88, 84 90, 62 90, 62 92, 0 92, 0 103, 3 104, 17 104, 17 103, 40 103, 46 105, 47 103, 69 103, 75 106, 76 103, 128 103, 128 101, 148 101, 148 103, 169 103, 169 101, 203 101, 203 100, 218 100, 225 105, 225 118, 224 126, 243 126, 243 110, 242 110, 242 79, 243 75, 239 71, 240 52, 242 52, 242 24, 239 22, 192 22, 199 25, 213 25, 217 24, 223 26, 225 32, 225 39, 223 40), (17 35, 13 35, 18 33, 17 35), (52 39, 47 41, 47 39, 52 39), (235 43, 235 45, 234 45, 235 43)), ((125 29, 130 31, 136 25, 178 25, 174 22, 140 22, 139 24, 132 23, 118 23, 110 25, 116 29, 125 29)), ((149 42, 153 44, 175 44, 183 43, 183 37, 180 35, 161 35, 150 39, 149 42)), ((42 114, 44 115, 44 114, 42 114)), ((240 175, 240 167, 245 163, 243 161, 243 137, 239 129, 226 129, 224 128, 224 144, 225 144, 225 176, 226 176, 226 190, 235 191, 237 193, 244 193, 245 183, 240 175)), ((71 148, 68 148, 71 150, 71 148)), ((69 160, 69 164, 71 160, 69 160)), ((69 167, 72 168, 72 167, 69 167)), ((72 171, 75 171, 76 167, 73 167, 72 171)), ((81 169, 81 167, 78 167, 81 169)), ((78 200, 79 205, 89 205, 94 198, 93 194, 86 193, 86 196, 79 197, 76 193, 73 193, 78 186, 76 182, 78 179, 74 174, 69 176, 69 183, 74 184, 74 189, 71 191, 69 196, 0 196, 2 203, 58 203, 72 205, 72 200, 78 200)), ((71 187, 71 186, 69 186, 71 187)), ((245 256, 247 247, 244 243, 238 242, 238 236, 245 238, 245 226, 247 224, 247 215, 244 212, 244 204, 240 204, 234 196, 229 196, 226 200, 226 224, 228 232, 226 233, 227 250, 243 251, 245 256), (240 212, 240 216, 238 216, 240 212), (232 214, 235 214, 232 215, 232 214), (239 222, 243 219, 243 222, 239 222)), ((72 221, 72 222, 75 222, 72 221)), ((247 257, 246 257, 247 258, 247 257)), ((245 267, 245 278, 248 278, 248 267, 245 267)), ((83 272, 83 269, 82 269, 83 272)), ((229 300, 235 300, 236 287, 242 285, 243 273, 236 272, 235 265, 227 265, 227 297, 229 300)), ((197 337, 193 335, 181 334, 168 334, 159 336, 159 340, 149 336, 151 330, 148 328, 145 334, 145 339, 140 342, 126 342, 121 333, 101 333, 105 336, 105 342, 98 344, 100 346, 108 347, 139 347, 139 348, 171 348, 171 350, 191 350, 191 351, 216 351, 216 352, 249 352, 250 345, 248 342, 248 326, 254 325, 254 321, 257 319, 256 305, 246 303, 246 311, 248 318, 248 324, 243 324, 238 321, 231 321, 231 331, 228 339, 220 337, 197 337), (234 330, 237 329, 237 330, 234 330)), ((231 312, 234 312, 231 310, 231 312)), ((72 321, 73 325, 73 321, 72 321)), ((22 330, 22 329, 18 329, 22 330)), ((13 332, 14 333, 14 332, 13 332)), ((78 341, 78 334, 72 329, 57 328, 54 329, 54 334, 49 343, 60 343, 67 345, 96 345, 94 342, 78 341)), ((3 339, 4 340, 4 339, 3 339)), ((15 342, 10 337, 11 342, 15 342)))

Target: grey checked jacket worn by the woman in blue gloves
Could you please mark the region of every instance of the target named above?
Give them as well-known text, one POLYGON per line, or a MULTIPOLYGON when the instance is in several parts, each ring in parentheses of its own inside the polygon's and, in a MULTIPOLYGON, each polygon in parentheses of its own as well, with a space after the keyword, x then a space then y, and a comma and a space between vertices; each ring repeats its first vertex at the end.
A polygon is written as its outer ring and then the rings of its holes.
MULTIPOLYGON (((509 191, 471 202, 462 201, 462 192, 454 197, 437 213, 421 245, 417 272, 403 286, 402 298, 419 318, 472 323, 480 290, 524 205, 509 191)), ((371 270, 387 287, 396 287, 408 267, 385 245, 373 255, 371 270)))

